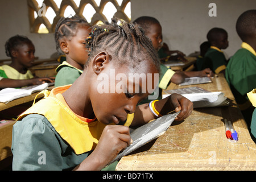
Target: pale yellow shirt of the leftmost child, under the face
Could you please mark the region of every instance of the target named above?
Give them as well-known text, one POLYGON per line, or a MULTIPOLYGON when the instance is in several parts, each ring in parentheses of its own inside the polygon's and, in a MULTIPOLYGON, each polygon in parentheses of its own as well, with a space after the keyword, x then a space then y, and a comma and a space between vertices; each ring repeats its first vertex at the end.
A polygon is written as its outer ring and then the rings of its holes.
POLYGON ((2 65, 0 67, 0 77, 3 78, 10 78, 14 80, 26 80, 30 78, 34 78, 33 74, 31 71, 27 71, 25 74, 22 74, 13 67, 10 67, 9 65, 2 65))

